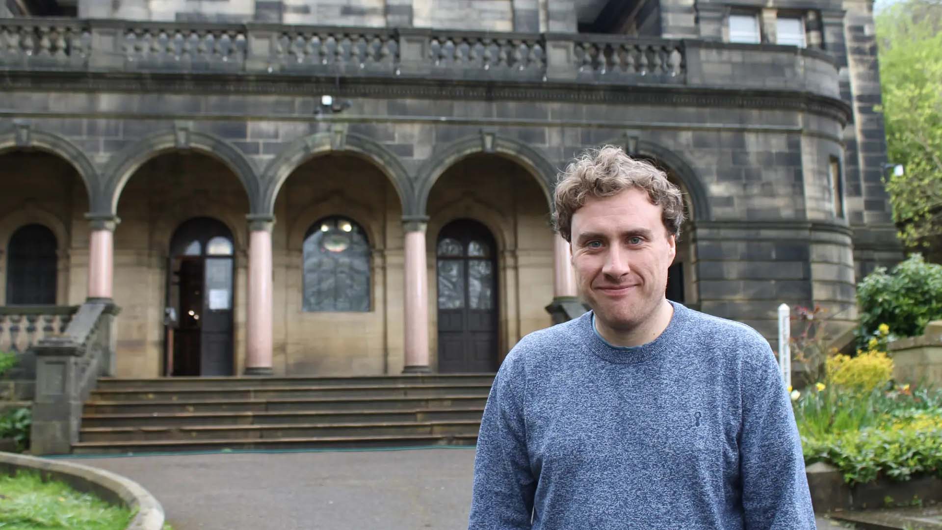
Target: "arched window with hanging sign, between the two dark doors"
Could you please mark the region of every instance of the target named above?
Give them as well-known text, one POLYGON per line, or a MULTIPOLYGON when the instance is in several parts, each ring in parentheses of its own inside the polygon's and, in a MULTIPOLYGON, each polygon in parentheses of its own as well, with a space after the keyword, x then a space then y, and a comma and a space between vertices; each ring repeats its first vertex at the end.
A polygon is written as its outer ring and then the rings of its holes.
POLYGON ((321 219, 304 236, 303 251, 303 310, 369 310, 369 240, 359 224, 321 219))

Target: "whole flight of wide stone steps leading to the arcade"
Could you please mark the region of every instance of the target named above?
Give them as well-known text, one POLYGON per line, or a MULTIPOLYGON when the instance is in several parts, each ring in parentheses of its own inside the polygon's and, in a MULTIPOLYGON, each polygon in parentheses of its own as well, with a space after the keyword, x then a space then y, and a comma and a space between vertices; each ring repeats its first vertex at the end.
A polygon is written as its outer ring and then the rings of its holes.
POLYGON ((75 454, 470 445, 493 373, 101 378, 75 454))

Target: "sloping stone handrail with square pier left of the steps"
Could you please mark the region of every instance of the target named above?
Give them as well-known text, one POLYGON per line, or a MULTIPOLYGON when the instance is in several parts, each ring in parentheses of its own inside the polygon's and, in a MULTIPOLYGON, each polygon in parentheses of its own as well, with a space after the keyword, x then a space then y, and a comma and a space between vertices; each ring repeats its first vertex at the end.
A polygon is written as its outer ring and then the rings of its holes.
POLYGON ((66 454, 78 441, 82 406, 98 377, 114 373, 114 317, 109 300, 89 300, 78 308, 65 332, 40 340, 36 353, 36 399, 32 452, 66 454))

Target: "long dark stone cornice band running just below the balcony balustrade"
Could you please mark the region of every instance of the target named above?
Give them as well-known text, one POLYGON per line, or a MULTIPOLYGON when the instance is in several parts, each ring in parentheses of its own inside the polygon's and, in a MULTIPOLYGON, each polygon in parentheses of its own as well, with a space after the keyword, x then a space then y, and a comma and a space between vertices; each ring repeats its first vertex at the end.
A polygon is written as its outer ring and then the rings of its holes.
POLYGON ((773 108, 810 111, 847 124, 850 105, 809 91, 705 88, 680 85, 513 82, 421 78, 355 78, 309 75, 117 74, 8 71, 0 79, 5 90, 122 91, 214 94, 279 94, 334 97, 430 98, 457 100, 560 101, 666 107, 773 108))

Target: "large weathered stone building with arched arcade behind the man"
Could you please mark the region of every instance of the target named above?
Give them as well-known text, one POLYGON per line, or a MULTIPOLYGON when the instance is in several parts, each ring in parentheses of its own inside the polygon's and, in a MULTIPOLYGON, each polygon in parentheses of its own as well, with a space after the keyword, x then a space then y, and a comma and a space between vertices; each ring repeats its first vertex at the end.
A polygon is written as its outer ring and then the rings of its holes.
POLYGON ((548 199, 604 143, 686 192, 669 295, 770 339, 899 258, 869 0, 0 17, 0 344, 112 298, 121 377, 493 372, 575 294, 548 199))

